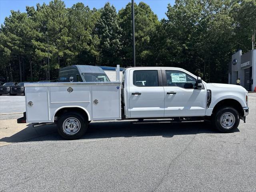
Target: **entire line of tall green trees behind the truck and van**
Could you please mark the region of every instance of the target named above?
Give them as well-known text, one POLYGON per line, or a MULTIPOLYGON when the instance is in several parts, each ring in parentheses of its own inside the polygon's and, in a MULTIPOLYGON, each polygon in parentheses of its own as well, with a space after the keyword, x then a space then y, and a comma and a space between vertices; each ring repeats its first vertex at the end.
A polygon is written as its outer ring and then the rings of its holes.
MULTIPOLYGON (((137 66, 176 66, 210 82, 227 82, 227 64, 238 49, 252 49, 256 0, 176 0, 158 20, 135 4, 137 66)), ((132 66, 131 3, 116 11, 61 0, 11 11, 0 27, 0 76, 6 81, 58 77, 73 64, 132 66)), ((254 42, 255 47, 255 42, 254 42)))

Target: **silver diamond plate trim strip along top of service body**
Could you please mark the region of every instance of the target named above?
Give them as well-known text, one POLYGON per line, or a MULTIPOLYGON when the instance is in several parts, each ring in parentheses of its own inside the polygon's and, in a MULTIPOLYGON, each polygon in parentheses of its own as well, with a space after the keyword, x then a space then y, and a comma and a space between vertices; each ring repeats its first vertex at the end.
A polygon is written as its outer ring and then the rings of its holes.
POLYGON ((52 83, 24 83, 24 87, 56 87, 56 86, 121 86, 120 81, 112 82, 52 82, 52 83))

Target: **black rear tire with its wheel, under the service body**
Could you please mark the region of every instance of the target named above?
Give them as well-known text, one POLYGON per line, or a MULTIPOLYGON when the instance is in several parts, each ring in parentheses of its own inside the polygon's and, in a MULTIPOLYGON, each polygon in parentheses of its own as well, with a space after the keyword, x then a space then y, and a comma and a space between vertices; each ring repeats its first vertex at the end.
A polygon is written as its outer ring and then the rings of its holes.
POLYGON ((86 130, 87 130, 87 120, 76 112, 67 112, 63 114, 57 123, 58 133, 62 138, 68 139, 68 140, 74 140, 78 139, 82 136, 84 136, 86 130), (68 122, 68 120, 70 120, 68 122), (68 125, 69 123, 74 123, 75 127, 80 125, 80 129, 74 128, 74 125, 68 125), (72 126, 72 127, 71 127, 72 126), (64 129, 66 128, 66 129, 64 129), (74 130, 71 130, 74 128, 74 130), (73 132, 71 132, 73 131, 73 132), (77 131, 77 132, 76 132, 77 131))

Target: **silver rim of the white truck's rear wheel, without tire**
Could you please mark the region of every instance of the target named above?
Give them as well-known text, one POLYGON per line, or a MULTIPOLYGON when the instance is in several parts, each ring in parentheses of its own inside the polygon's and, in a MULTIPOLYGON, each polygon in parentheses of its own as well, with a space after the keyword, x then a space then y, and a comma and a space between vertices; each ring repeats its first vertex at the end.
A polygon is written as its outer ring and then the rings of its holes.
POLYGON ((65 134, 74 135, 81 128, 81 124, 77 118, 67 118, 62 124, 62 130, 65 134))

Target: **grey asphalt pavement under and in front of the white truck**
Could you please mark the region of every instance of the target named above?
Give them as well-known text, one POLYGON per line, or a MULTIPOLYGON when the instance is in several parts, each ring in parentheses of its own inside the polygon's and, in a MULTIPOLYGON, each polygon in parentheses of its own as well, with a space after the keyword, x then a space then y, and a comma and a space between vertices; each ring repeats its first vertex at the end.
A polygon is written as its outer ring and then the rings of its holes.
POLYGON ((0 120, 0 191, 253 192, 255 93, 249 108, 246 123, 228 134, 204 122, 108 121, 91 122, 82 139, 68 141, 55 126, 0 120))

